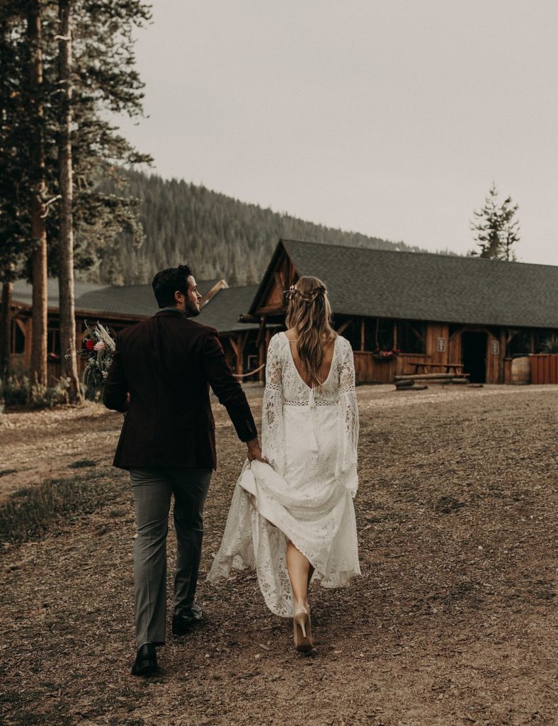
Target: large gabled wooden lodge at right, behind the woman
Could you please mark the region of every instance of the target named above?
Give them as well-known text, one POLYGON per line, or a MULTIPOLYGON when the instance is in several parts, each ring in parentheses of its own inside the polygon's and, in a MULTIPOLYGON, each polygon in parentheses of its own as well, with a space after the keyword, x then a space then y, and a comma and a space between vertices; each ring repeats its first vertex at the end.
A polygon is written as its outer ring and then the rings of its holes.
POLYGON ((283 290, 309 274, 328 287, 360 383, 391 382, 412 362, 463 363, 471 381, 509 383, 511 356, 558 333, 558 266, 296 240, 278 243, 242 319, 283 322, 283 290))

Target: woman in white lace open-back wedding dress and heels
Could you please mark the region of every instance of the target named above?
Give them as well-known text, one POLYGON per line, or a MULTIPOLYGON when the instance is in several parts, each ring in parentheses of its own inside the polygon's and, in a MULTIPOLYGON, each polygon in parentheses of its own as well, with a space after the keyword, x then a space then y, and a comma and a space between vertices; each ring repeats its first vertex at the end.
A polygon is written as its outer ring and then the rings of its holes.
POLYGON ((325 285, 301 277, 287 296, 288 330, 267 351, 262 460, 243 466, 208 579, 256 568, 268 608, 293 616, 294 644, 305 652, 310 580, 341 587, 360 574, 359 419, 353 353, 331 327, 325 285))

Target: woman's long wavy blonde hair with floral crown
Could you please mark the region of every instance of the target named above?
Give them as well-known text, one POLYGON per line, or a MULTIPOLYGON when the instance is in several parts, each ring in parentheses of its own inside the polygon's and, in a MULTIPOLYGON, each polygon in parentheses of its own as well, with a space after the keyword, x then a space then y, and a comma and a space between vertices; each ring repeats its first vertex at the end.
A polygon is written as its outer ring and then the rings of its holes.
POLYGON ((320 367, 324 359, 324 344, 337 336, 331 327, 328 290, 322 280, 308 275, 301 277, 296 285, 291 285, 287 298, 286 325, 296 330, 304 374, 312 386, 321 386, 320 367))

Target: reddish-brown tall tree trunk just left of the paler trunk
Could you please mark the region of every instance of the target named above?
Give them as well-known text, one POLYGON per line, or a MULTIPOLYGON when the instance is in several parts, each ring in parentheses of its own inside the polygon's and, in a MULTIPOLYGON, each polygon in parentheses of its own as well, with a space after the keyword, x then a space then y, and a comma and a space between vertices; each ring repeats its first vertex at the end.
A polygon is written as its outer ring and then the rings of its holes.
POLYGON ((30 49, 29 99, 30 132, 33 136, 33 189, 31 190, 31 236, 33 248, 33 327, 31 340, 31 376, 46 386, 46 325, 47 325, 47 268, 46 268, 46 203, 45 153, 43 131, 43 56, 41 52, 41 8, 39 0, 28 4, 27 34, 30 49))

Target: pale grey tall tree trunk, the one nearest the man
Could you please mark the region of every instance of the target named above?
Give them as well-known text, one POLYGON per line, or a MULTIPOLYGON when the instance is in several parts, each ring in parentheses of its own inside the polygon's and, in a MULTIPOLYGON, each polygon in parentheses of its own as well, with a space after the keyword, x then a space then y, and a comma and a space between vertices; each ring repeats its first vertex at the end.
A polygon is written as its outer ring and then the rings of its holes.
POLYGON ((81 402, 78 361, 75 353, 74 233, 72 226, 72 29, 71 0, 59 0, 59 89, 62 91, 58 144, 59 182, 62 195, 59 232, 59 309, 62 373, 70 379, 70 401, 81 402))

